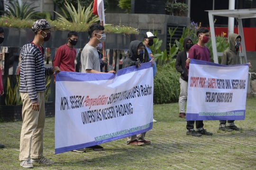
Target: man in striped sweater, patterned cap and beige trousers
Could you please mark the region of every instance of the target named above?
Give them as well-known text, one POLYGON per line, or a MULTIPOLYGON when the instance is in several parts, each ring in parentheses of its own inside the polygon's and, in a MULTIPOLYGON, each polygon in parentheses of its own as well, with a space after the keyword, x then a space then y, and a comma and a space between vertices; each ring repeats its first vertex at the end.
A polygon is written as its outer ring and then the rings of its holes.
POLYGON ((20 134, 20 166, 33 168, 32 163, 53 164, 43 156, 43 130, 45 126, 45 75, 60 72, 59 67, 46 68, 42 44, 50 39, 49 23, 45 19, 34 22, 33 41, 21 50, 20 96, 23 124, 20 134))

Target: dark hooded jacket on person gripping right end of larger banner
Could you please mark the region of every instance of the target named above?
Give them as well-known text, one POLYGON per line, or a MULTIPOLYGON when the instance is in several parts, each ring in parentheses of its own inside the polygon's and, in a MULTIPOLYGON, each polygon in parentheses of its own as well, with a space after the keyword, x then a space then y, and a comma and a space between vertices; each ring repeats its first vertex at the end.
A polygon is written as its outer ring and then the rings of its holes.
MULTIPOLYGON (((138 58, 137 50, 140 43, 142 44, 141 41, 137 41, 137 40, 132 41, 130 43, 130 48, 129 48, 130 55, 124 60, 122 69, 136 65, 137 58, 138 58)), ((145 47, 144 47, 144 59, 140 60, 140 62, 141 63, 149 62, 148 53, 145 47)))

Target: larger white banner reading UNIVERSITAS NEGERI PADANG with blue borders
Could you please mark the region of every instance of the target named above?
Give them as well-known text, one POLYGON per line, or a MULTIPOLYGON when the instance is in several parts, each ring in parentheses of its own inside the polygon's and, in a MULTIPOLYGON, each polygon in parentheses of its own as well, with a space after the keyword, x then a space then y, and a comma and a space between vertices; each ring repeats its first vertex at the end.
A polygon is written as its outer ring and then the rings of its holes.
POLYGON ((56 76, 55 154, 140 134, 153 126, 153 68, 56 76))

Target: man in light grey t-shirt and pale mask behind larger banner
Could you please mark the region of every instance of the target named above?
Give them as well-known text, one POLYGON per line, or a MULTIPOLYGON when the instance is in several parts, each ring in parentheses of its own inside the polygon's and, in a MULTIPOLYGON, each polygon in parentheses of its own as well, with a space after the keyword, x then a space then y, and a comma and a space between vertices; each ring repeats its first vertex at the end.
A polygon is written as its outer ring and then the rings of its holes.
MULTIPOLYGON (((92 24, 89 27, 88 33, 91 37, 90 41, 84 46, 81 54, 82 72, 86 73, 103 73, 101 72, 99 54, 96 46, 99 43, 103 43, 106 40, 106 34, 104 33, 104 27, 99 24, 92 24)), ((109 73, 116 74, 115 71, 109 73)), ((94 151, 103 150, 100 145, 88 147, 94 151)), ((73 150, 74 152, 85 152, 85 149, 73 150)))

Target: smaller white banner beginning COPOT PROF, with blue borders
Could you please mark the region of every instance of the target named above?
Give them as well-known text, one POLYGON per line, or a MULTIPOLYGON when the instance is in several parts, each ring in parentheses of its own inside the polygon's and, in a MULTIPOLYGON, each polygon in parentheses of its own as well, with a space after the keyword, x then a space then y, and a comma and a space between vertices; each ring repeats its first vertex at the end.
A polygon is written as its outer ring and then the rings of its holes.
POLYGON ((244 120, 248 70, 191 60, 186 120, 244 120))

